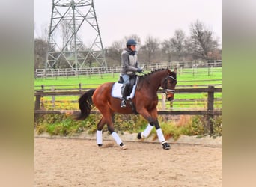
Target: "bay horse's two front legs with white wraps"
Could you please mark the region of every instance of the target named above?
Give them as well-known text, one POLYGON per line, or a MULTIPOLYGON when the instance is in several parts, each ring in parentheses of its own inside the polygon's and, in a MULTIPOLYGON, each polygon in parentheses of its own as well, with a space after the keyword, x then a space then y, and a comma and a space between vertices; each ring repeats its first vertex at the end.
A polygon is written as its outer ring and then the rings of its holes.
POLYGON ((156 135, 159 139, 159 142, 162 144, 162 148, 164 150, 170 149, 170 145, 165 141, 165 136, 162 133, 162 129, 159 125, 159 122, 157 120, 157 111, 154 110, 152 112, 148 112, 146 109, 141 110, 140 114, 149 122, 147 124, 147 128, 144 129, 143 132, 138 132, 138 139, 141 138, 147 138, 148 135, 150 135, 150 132, 153 129, 153 126, 156 128, 156 135))

